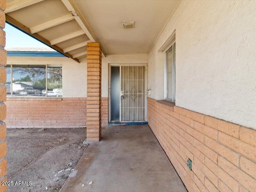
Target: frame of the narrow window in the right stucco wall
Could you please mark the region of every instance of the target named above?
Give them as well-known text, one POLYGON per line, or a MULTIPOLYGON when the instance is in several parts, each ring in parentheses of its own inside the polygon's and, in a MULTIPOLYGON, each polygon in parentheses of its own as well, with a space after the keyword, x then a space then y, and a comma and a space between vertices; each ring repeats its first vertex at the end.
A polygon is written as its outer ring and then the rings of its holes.
POLYGON ((175 103, 175 91, 176 91, 176 42, 174 41, 168 46, 168 49, 165 51, 165 100, 175 103), (168 98, 168 63, 167 63, 167 53, 172 49, 173 62, 172 62, 172 98, 168 98))

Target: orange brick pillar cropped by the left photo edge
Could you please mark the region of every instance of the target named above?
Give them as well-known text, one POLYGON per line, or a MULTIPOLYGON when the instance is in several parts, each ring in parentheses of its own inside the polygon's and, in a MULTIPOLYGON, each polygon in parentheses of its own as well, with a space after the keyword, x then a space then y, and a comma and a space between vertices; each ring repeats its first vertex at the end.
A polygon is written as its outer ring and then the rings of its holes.
POLYGON ((7 160, 5 158, 7 152, 6 144, 6 124, 3 120, 6 118, 6 50, 5 47, 5 14, 6 0, 0 0, 0 191, 5 192, 6 186, 2 186, 2 181, 6 181, 7 160))

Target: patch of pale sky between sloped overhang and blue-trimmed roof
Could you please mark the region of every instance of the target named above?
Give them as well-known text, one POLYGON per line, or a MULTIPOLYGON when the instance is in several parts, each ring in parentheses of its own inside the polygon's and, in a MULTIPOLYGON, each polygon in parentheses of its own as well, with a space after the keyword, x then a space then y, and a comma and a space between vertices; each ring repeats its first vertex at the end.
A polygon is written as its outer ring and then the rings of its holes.
POLYGON ((45 44, 6 23, 6 48, 36 47, 48 48, 45 44))

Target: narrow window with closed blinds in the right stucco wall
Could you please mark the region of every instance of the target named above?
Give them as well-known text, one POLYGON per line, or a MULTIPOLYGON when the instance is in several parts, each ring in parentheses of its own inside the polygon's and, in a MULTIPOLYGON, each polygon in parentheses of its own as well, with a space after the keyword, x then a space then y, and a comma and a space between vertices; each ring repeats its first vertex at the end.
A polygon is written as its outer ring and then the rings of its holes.
POLYGON ((175 43, 166 52, 166 99, 175 102, 175 43))

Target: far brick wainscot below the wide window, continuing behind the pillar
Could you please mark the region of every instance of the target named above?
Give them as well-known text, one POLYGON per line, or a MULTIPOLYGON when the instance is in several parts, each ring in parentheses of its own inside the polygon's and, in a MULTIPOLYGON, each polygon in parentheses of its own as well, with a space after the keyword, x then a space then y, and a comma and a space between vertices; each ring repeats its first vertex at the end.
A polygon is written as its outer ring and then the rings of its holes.
MULTIPOLYGON (((86 126, 86 98, 8 98, 6 124, 11 128, 86 126)), ((102 98, 102 125, 108 124, 108 98, 102 98)))

